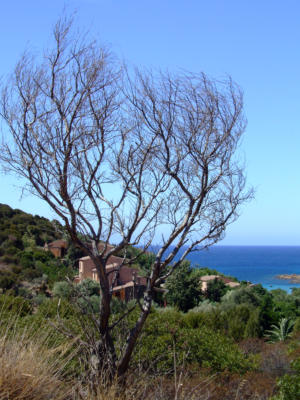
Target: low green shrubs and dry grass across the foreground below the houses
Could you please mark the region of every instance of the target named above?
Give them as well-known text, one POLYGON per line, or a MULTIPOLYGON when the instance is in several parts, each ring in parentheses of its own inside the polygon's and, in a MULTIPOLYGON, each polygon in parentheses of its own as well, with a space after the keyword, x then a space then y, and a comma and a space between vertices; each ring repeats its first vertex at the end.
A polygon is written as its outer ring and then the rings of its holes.
MULTIPOLYGON (((88 283, 85 295, 97 295, 95 285, 94 288, 88 283)), ((89 357, 78 346, 79 340, 85 340, 83 325, 88 324, 90 332, 97 333, 93 331, 90 315, 82 319, 76 305, 67 299, 50 298, 35 309, 30 300, 20 297, 3 294, 0 299, 0 394, 5 392, 10 399, 46 399, 48 395, 69 399, 72 394, 72 398, 78 396, 86 400, 202 400, 204 393, 209 400, 229 400, 233 395, 251 400, 271 399, 272 395, 274 400, 298 399, 299 362, 294 357, 299 354, 299 343, 296 337, 289 339, 285 348, 267 343, 263 338, 235 339, 232 329, 223 331, 233 314, 223 315, 222 321, 221 314, 213 319, 214 312, 190 310, 183 313, 171 307, 152 310, 134 353, 127 376, 131 383, 123 391, 124 396, 118 397, 120 393, 115 383, 101 390, 102 397, 100 393, 99 397, 94 397, 86 386, 89 357), (64 327, 72 327, 77 332, 73 340, 57 329, 61 321, 64 327), (290 346, 293 346, 291 359, 296 360, 291 364, 286 356, 290 346), (248 380, 253 379, 256 385, 249 385, 248 380), (204 392, 193 391, 202 385, 206 388, 204 392)), ((218 307, 221 304, 222 301, 218 307)), ((131 307, 131 304, 115 300, 112 319, 119 318, 124 307, 131 307)), ((241 321, 246 313, 245 304, 236 307, 235 313, 240 310, 241 321)), ((120 343, 126 339, 125 331, 130 329, 137 315, 134 312, 123 319, 117 333, 120 343)))

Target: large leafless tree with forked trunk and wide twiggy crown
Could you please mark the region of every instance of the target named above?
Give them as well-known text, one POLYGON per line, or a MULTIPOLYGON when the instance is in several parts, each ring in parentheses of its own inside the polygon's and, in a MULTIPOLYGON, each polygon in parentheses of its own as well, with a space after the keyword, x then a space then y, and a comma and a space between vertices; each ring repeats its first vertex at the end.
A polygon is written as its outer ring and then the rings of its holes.
POLYGON ((220 240, 251 196, 235 157, 243 96, 231 79, 126 73, 108 50, 72 35, 71 25, 59 21, 53 48, 39 61, 25 54, 3 86, 8 129, 0 159, 91 257, 101 287, 98 372, 122 377, 155 288, 189 252, 220 240), (117 354, 113 329, 122 317, 111 324, 106 264, 127 246, 146 251, 158 238, 139 318, 117 354))

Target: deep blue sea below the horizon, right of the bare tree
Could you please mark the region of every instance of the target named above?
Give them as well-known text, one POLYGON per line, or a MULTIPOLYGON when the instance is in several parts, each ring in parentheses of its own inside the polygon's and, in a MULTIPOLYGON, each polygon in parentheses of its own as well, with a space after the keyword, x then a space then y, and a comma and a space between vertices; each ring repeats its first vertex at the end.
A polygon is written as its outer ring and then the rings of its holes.
POLYGON ((266 289, 291 288, 278 274, 300 274, 300 246, 213 246, 187 256, 193 266, 214 268, 239 280, 261 283, 266 289))

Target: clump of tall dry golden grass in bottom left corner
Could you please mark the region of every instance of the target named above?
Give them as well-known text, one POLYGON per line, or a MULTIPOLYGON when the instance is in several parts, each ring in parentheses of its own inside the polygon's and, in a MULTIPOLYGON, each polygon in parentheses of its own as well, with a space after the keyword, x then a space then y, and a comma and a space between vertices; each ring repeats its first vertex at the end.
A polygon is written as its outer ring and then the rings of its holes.
POLYGON ((47 347, 47 334, 14 330, 10 321, 0 332, 0 400, 67 399, 63 383, 67 348, 47 347))

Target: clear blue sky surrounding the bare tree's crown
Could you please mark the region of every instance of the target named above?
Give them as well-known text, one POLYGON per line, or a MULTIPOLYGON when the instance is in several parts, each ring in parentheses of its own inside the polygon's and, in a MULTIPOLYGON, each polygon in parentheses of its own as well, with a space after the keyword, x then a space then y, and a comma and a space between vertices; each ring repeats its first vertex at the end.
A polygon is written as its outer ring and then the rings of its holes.
MULTIPOLYGON (((76 23, 131 64, 230 74, 245 93, 241 150, 255 200, 221 244, 300 245, 299 0, 69 0, 76 23)), ((61 0, 1 2, 0 75, 47 46, 61 0)), ((53 218, 0 176, 0 203, 53 218)))

